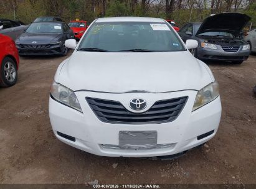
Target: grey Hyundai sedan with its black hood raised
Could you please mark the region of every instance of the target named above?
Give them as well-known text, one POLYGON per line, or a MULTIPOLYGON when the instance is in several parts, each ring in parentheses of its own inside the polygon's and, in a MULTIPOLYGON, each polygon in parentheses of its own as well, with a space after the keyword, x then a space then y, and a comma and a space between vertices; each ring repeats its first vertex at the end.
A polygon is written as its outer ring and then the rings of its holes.
POLYGON ((198 47, 191 50, 200 60, 230 61, 240 64, 250 55, 250 45, 244 41, 242 29, 250 17, 239 12, 225 12, 207 17, 204 22, 192 22, 179 30, 186 42, 195 39, 198 47))

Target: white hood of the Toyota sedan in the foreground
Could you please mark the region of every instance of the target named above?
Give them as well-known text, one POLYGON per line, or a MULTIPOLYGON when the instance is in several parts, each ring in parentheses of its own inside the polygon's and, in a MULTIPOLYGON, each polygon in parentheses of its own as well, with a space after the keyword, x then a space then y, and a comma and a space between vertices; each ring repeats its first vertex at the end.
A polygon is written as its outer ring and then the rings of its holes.
POLYGON ((55 75, 73 91, 162 93, 201 90, 212 82, 204 63, 188 51, 74 52, 55 75))

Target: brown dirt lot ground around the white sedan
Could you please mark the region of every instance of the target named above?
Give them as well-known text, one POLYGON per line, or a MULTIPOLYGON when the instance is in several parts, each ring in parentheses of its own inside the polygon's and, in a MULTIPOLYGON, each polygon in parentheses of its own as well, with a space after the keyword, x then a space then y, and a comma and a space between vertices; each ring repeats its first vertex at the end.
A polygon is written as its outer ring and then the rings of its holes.
POLYGON ((208 63, 220 84, 219 131, 175 160, 98 157, 58 141, 48 99, 65 58, 23 57, 17 84, 0 88, 0 183, 256 183, 256 56, 208 63))

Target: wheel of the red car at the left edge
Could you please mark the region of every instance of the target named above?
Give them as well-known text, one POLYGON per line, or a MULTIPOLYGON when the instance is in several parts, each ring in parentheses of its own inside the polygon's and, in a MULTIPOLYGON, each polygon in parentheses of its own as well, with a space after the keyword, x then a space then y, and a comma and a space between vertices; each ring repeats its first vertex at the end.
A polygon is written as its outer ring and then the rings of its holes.
POLYGON ((15 85, 17 76, 16 62, 12 58, 4 58, 0 68, 0 86, 7 87, 15 85))

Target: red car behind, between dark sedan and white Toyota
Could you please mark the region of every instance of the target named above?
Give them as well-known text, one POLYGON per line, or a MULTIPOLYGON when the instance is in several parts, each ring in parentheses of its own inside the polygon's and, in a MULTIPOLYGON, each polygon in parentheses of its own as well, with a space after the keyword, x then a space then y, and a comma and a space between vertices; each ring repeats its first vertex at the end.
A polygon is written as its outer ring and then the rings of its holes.
POLYGON ((81 39, 88 26, 87 21, 70 21, 69 27, 73 30, 75 39, 81 39))

